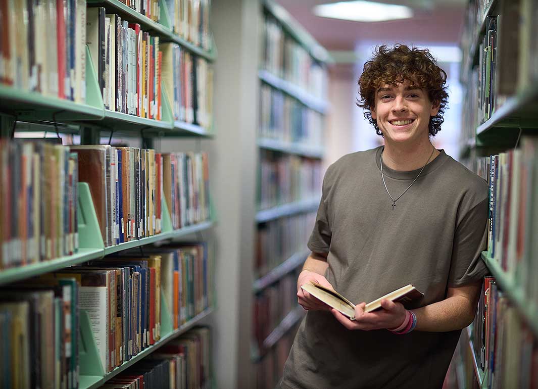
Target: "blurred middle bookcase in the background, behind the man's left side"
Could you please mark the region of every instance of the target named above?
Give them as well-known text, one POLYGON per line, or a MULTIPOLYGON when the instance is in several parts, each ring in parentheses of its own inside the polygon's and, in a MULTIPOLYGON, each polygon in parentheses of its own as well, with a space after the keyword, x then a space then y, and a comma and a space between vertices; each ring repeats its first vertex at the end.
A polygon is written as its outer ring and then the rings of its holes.
POLYGON ((325 97, 326 67, 331 59, 278 4, 262 1, 259 12, 264 53, 257 72, 260 93, 256 139, 258 197, 254 216, 257 250, 251 276, 251 331, 255 340, 242 341, 252 343, 250 366, 256 379, 251 380, 251 385, 256 381, 256 387, 273 388, 281 378, 294 331, 305 314, 296 301, 296 275, 309 255, 306 242, 321 198, 324 116, 330 109, 325 97), (288 61, 296 68, 282 61, 278 47, 286 51, 288 61), (297 74, 299 68, 308 73, 310 82, 297 74), (301 119, 294 121, 292 115, 301 119), (291 161, 290 165, 286 161, 291 161), (291 164, 300 165, 303 171, 293 171, 291 164), (299 195, 289 195, 286 188, 273 180, 279 174, 277 165, 290 169, 288 181, 293 181, 294 174, 303 174, 305 178, 312 174, 317 185, 300 187, 299 195), (272 173, 267 174, 267 169, 272 173), (302 231, 298 234, 299 229, 302 231), (272 234, 281 237, 272 241, 272 234), (275 250, 274 246, 286 245, 285 235, 297 242, 285 252, 275 250), (282 306, 266 317, 265 310, 272 310, 268 307, 276 306, 277 300, 282 306), (270 324, 262 323, 265 320, 270 324))

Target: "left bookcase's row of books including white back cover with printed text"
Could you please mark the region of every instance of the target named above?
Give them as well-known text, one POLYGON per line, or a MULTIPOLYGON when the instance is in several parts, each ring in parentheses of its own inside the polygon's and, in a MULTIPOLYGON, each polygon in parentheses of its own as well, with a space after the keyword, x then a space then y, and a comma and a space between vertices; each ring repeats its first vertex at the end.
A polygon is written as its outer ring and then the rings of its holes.
POLYGON ((5 387, 77 388, 82 311, 104 372, 115 369, 165 335, 161 295, 173 328, 209 307, 209 273, 206 244, 177 245, 122 252, 0 291, 0 332, 13 339, 0 345, 10 356, 0 366, 13 383, 5 387))

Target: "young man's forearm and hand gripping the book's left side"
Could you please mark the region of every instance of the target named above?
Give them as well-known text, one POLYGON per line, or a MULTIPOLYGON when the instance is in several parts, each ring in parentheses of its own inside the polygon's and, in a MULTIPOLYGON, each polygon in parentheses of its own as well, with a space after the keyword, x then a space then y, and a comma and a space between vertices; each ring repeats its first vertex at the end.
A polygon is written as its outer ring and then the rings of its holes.
POLYGON ((329 267, 329 264, 327 263, 327 255, 328 253, 311 253, 303 265, 303 270, 299 274, 299 278, 297 280, 297 298, 299 304, 306 310, 330 309, 327 304, 316 299, 314 296, 310 295, 310 293, 303 291, 301 288, 301 285, 314 281, 317 282, 317 284, 334 290, 332 285, 329 284, 329 281, 327 281, 323 275, 329 267))

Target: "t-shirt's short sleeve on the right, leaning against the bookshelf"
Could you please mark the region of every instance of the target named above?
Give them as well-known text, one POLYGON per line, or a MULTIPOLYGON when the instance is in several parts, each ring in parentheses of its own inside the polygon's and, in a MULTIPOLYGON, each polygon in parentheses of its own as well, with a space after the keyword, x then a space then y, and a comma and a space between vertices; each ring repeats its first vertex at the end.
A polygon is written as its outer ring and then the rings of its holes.
POLYGON ((489 274, 482 261, 482 251, 487 247, 488 199, 471 208, 456 228, 452 245, 452 260, 448 285, 470 284, 489 274))

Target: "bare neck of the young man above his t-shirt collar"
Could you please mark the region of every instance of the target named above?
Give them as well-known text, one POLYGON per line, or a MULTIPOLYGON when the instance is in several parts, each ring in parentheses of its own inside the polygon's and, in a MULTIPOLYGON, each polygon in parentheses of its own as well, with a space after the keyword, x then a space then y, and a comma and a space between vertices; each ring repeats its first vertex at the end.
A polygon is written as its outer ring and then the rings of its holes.
POLYGON ((393 170, 409 172, 421 169, 425 164, 434 160, 440 152, 434 149, 429 138, 425 142, 409 146, 385 142, 383 163, 393 170), (433 154, 431 152, 433 151, 433 154), (431 158, 429 158, 431 155, 431 158), (428 160, 429 158, 429 160, 428 160))

